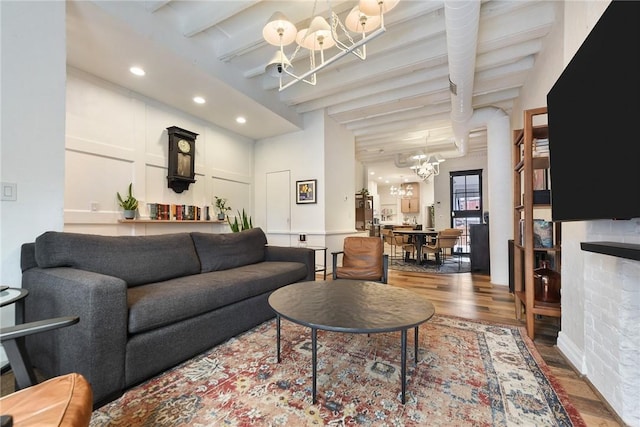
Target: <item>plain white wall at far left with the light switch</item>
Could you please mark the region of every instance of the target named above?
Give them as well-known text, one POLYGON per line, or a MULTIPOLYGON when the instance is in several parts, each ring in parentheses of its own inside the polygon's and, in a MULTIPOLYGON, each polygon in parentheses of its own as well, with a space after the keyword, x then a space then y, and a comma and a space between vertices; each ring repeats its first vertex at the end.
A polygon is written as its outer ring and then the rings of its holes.
POLYGON ((0 202, 0 283, 20 287, 20 246, 63 228, 65 3, 2 1, 0 15, 0 180, 17 185, 0 202))

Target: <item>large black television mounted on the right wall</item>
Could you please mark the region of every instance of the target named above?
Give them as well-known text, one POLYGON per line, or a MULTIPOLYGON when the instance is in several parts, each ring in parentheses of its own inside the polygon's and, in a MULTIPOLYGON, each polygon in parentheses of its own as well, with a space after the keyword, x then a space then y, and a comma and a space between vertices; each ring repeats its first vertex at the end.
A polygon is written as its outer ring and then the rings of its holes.
POLYGON ((640 218, 639 22, 612 1, 547 94, 553 221, 640 218))

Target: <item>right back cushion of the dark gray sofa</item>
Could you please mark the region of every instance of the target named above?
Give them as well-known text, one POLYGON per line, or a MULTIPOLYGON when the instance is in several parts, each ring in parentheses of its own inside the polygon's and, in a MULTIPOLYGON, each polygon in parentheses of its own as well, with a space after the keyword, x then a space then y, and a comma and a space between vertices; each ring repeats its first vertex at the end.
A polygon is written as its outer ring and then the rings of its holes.
POLYGON ((261 228, 238 233, 199 233, 191 237, 200 257, 201 272, 228 270, 265 259, 267 237, 261 228))

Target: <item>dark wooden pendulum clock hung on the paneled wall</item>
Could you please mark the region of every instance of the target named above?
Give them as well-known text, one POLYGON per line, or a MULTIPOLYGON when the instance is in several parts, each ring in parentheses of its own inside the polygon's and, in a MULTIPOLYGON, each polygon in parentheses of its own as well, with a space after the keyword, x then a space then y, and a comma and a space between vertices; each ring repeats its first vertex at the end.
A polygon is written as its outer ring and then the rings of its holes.
POLYGON ((189 184, 196 182, 196 137, 197 133, 171 126, 167 128, 169 135, 169 172, 167 181, 169 188, 176 193, 189 189, 189 184))

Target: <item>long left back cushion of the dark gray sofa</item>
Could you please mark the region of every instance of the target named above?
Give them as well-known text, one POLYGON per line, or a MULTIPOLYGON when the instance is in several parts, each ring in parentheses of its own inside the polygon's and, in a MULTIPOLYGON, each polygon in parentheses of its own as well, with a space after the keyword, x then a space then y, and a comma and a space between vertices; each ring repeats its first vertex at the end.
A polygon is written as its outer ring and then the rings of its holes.
POLYGON ((130 287, 200 272, 189 233, 98 236, 47 231, 35 243, 39 267, 92 271, 123 279, 130 287))

